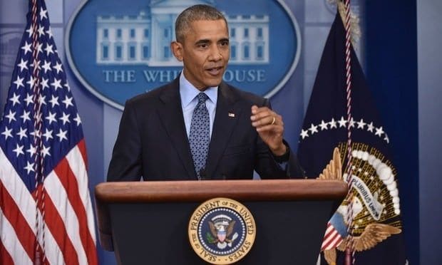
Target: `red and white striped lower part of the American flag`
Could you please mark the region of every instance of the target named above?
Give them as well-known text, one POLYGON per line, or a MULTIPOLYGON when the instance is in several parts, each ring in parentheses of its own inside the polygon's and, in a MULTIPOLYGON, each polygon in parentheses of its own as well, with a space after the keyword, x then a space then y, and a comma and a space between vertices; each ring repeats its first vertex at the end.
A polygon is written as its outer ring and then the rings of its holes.
MULTIPOLYGON (((69 261, 69 264, 88 264, 88 261, 98 263, 95 232, 89 229, 93 227, 93 219, 87 218, 92 214, 92 205, 86 196, 81 196, 78 193, 78 190, 87 185, 87 182, 83 181, 84 177, 80 177, 80 180, 76 177, 86 175, 84 161, 76 158, 78 156, 86 157, 82 154, 81 148, 84 151, 84 140, 76 148, 73 148, 65 159, 61 160, 45 180, 46 218, 53 220, 45 223, 45 255, 49 264, 60 264, 60 261, 61 263, 69 261), (59 246, 63 246, 63 252, 59 246)), ((4 160, 4 152, 1 149, 0 160, 4 160)), ((4 163, 4 166, 5 172, 14 174, 14 168, 10 163, 4 163)), ((0 231, 1 242, 5 242, 1 245, 1 251, 8 253, 1 255, 1 264, 11 264, 10 261, 12 264, 27 264, 26 260, 32 264, 34 259, 33 242, 36 241, 33 229, 35 201, 28 189, 20 182, 8 181, 14 178, 5 177, 5 175, 1 175, 0 178, 0 192, 3 202, 1 204, 0 231), (9 190, 11 190, 12 196, 9 190), (15 225, 12 226, 11 223, 15 225), (6 235, 7 238, 4 239, 3 237, 6 235)))

